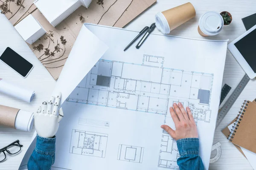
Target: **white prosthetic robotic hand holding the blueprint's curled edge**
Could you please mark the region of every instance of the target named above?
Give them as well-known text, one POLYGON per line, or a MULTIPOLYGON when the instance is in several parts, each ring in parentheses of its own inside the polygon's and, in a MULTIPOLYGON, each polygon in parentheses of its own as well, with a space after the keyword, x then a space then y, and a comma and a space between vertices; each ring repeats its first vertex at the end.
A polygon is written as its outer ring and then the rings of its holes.
POLYGON ((52 96, 50 101, 43 102, 35 113, 35 130, 37 134, 44 138, 52 138, 58 131, 59 122, 64 114, 62 108, 58 110, 61 100, 61 93, 52 96))

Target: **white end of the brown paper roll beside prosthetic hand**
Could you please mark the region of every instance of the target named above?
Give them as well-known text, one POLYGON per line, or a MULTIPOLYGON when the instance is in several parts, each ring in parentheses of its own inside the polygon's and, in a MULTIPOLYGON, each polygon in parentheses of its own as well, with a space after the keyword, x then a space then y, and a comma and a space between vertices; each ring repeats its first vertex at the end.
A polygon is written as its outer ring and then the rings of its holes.
POLYGON ((34 125, 34 113, 20 110, 15 119, 15 129, 30 132, 34 125))

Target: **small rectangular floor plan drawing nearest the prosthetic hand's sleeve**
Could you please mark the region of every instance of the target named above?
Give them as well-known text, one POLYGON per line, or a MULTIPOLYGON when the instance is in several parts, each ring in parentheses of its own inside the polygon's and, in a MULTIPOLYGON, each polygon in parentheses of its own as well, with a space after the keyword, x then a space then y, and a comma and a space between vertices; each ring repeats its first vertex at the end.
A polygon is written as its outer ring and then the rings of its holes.
POLYGON ((70 153, 105 158, 108 134, 72 130, 70 153))

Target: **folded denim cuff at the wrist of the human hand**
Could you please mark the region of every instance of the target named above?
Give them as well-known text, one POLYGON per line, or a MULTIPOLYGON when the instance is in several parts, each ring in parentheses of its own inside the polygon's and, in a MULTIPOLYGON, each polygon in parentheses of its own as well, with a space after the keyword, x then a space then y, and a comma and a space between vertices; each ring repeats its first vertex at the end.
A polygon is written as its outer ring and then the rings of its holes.
POLYGON ((186 154, 199 155, 199 139, 198 138, 184 138, 177 140, 177 147, 180 156, 186 154))

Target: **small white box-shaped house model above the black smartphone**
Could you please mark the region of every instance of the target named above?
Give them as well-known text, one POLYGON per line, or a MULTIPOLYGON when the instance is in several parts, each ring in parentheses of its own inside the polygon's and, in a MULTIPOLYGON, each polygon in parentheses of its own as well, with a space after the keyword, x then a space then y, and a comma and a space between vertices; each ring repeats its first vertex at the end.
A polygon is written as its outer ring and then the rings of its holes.
POLYGON ((15 29, 29 44, 32 44, 46 33, 38 20, 36 20, 31 14, 21 20, 20 23, 15 26, 15 29))

